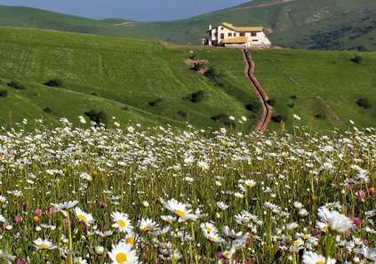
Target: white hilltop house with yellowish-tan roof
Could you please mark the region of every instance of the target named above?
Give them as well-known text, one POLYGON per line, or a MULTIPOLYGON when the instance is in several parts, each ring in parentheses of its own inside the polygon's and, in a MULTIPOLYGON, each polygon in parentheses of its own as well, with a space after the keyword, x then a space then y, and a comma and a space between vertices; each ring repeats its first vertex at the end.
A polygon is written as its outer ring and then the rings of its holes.
POLYGON ((216 28, 209 26, 208 35, 203 39, 204 45, 235 48, 270 47, 271 43, 263 27, 236 27, 222 23, 216 28))

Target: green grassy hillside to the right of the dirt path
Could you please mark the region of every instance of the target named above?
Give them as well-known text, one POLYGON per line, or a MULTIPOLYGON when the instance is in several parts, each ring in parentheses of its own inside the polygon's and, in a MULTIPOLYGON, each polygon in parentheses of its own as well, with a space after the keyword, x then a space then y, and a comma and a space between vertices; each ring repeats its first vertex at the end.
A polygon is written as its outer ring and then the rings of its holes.
MULTIPOLYGON (((376 126, 376 53, 282 50, 253 54, 256 76, 274 100, 273 116, 286 120, 286 127, 292 128, 294 114, 301 117, 296 124, 314 131, 347 129, 349 119, 359 127, 376 126), (352 61, 356 56, 361 58, 358 63, 352 61)), ((278 125, 272 122, 270 127, 278 125)))

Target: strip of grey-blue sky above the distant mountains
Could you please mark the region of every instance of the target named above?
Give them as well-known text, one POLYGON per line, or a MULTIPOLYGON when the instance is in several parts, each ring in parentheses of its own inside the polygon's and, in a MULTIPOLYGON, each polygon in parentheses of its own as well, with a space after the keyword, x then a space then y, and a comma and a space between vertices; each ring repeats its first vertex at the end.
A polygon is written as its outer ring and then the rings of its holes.
POLYGON ((93 19, 177 20, 250 0, 0 0, 93 19))

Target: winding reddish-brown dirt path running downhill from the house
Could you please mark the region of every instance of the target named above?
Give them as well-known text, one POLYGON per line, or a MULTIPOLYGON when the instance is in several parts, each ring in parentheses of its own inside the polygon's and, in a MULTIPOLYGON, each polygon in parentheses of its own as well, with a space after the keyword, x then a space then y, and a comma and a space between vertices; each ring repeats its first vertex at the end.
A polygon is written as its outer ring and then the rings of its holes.
POLYGON ((266 132, 268 128, 268 124, 270 123, 271 114, 273 112, 273 108, 268 104, 268 94, 262 88, 260 82, 257 80, 256 76, 254 76, 254 68, 255 64, 252 60, 251 52, 248 50, 243 50, 243 60, 244 60, 244 75, 250 80, 252 84, 253 90, 259 97, 261 106, 262 106, 262 113, 260 116, 260 121, 256 125, 255 130, 258 132, 266 132))

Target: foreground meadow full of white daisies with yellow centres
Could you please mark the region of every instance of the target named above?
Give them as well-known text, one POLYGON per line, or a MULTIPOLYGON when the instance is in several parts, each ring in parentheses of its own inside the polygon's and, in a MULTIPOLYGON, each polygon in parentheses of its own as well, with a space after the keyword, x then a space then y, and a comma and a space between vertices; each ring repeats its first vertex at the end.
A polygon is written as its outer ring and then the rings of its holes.
POLYGON ((0 258, 372 263, 375 129, 319 136, 299 119, 265 135, 84 116, 3 128, 0 258))

